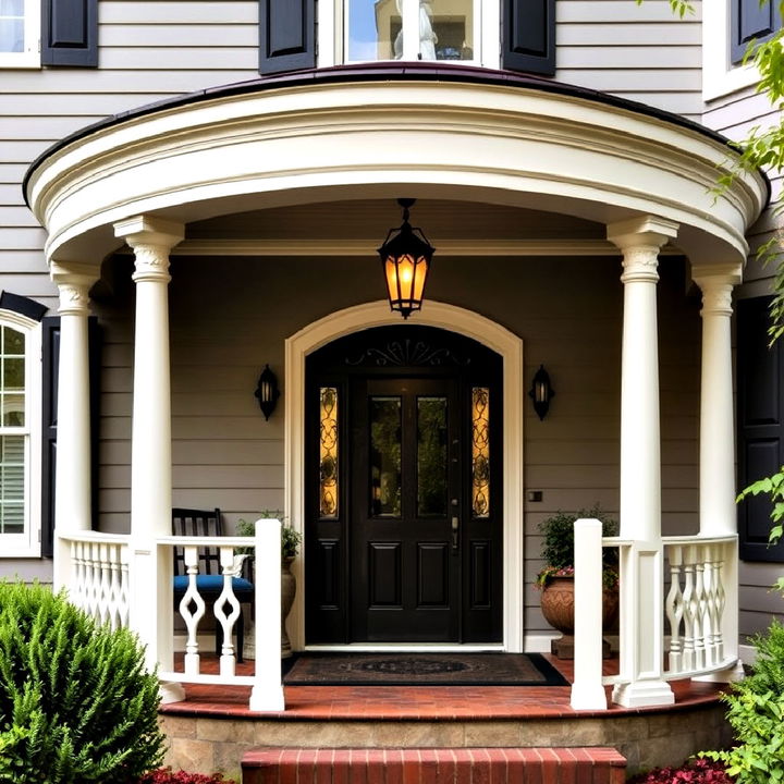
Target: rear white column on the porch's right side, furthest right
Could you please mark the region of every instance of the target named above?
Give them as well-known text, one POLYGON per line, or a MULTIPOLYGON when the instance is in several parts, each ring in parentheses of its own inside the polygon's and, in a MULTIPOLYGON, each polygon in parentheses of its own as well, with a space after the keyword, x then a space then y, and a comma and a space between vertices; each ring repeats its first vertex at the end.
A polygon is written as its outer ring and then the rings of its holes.
MULTIPOLYGON (((695 265, 691 275, 702 291, 702 378, 700 383, 700 536, 737 536, 735 505, 735 402, 732 365, 732 292, 742 281, 740 265, 695 265)), ((737 666, 701 679, 743 676, 738 654, 737 540, 723 548, 725 590, 722 642, 725 659, 737 666)))

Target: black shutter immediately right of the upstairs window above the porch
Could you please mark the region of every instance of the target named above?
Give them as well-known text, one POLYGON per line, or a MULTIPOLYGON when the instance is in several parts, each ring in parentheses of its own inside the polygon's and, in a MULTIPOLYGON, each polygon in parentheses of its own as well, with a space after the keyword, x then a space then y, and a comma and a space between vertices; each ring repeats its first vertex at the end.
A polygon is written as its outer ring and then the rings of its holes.
POLYGON ((548 76, 555 73, 555 0, 503 0, 501 65, 548 76))

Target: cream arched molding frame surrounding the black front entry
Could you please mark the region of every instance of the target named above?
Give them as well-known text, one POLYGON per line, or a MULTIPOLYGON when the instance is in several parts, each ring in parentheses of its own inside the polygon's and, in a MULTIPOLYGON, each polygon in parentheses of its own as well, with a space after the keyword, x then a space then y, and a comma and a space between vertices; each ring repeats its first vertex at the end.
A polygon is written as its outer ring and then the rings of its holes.
MULTIPOLYGON (((416 323, 440 327, 473 338, 503 358, 503 543, 504 629, 503 647, 523 651, 524 612, 524 488, 523 488, 523 341, 506 328, 473 310, 428 301, 416 323)), ((305 358, 321 346, 359 329, 400 324, 385 299, 365 303, 314 321, 285 341, 285 514, 303 531, 305 517, 305 358)), ((303 559, 295 562, 303 579, 303 559)), ((292 644, 301 649, 305 639, 303 592, 296 598, 289 622, 292 644)), ((428 646, 416 646, 418 650, 428 646)), ((438 646, 443 650, 443 646, 438 646)))

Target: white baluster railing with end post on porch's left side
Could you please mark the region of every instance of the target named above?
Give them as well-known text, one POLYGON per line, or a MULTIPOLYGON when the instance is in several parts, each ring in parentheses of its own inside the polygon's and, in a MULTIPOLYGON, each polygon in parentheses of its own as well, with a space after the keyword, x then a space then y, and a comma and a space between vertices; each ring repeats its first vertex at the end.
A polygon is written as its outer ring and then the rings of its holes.
POLYGON ((281 602, 280 602, 280 520, 260 519, 254 537, 159 537, 154 542, 134 541, 131 536, 76 531, 58 535, 58 583, 69 591, 70 600, 100 623, 131 627, 147 646, 148 661, 157 662, 162 682, 252 686, 250 710, 284 709, 281 683, 281 602), (173 626, 158 634, 156 624, 133 628, 133 618, 156 613, 166 616, 174 603, 171 564, 173 548, 182 547, 188 587, 179 602, 179 612, 187 629, 184 669, 174 670, 173 626), (198 591, 198 551, 217 548, 220 553, 223 589, 213 602, 213 615, 221 624, 223 642, 219 672, 203 671, 199 652, 199 623, 207 602, 198 591), (240 602, 232 588, 244 555, 238 549, 253 550, 256 560, 254 577, 255 672, 236 674, 234 626, 242 622, 240 602), (157 564, 150 575, 149 566, 157 564), (154 584, 154 585, 150 585, 154 584), (154 601, 152 607, 148 602, 154 601), (147 602, 147 607, 139 607, 147 602), (164 612, 164 610, 167 612, 164 612), (168 637, 164 638, 164 635, 168 637), (150 656, 155 651, 156 656, 150 656))

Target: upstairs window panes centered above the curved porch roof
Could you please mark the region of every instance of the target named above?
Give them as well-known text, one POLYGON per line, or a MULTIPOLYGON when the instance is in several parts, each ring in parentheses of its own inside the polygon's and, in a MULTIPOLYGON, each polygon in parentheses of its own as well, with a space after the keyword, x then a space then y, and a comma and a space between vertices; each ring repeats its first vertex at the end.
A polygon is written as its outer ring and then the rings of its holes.
POLYGON ((478 54, 476 0, 346 0, 345 62, 478 54))

